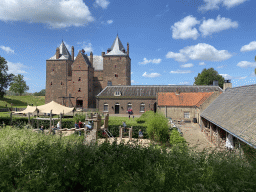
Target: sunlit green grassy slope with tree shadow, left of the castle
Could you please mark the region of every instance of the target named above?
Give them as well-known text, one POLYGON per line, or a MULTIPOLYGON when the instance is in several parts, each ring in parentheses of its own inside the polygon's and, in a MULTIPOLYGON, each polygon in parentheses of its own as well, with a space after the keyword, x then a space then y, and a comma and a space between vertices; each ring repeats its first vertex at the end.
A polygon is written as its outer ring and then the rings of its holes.
POLYGON ((26 108, 27 105, 33 104, 34 106, 44 105, 45 104, 45 96, 4 96, 4 98, 0 99, 0 108, 10 108, 11 103, 13 104, 13 108, 26 108))

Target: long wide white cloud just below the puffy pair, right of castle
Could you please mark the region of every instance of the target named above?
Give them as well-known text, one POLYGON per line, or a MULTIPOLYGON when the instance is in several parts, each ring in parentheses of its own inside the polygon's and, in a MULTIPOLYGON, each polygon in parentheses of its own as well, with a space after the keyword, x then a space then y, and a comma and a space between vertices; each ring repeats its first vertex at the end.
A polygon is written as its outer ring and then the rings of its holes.
POLYGON ((179 62, 186 62, 191 60, 205 60, 205 61, 223 61, 227 60, 232 55, 226 50, 217 50, 215 47, 199 43, 197 45, 188 46, 179 50, 179 53, 168 52, 166 58, 172 58, 179 62))

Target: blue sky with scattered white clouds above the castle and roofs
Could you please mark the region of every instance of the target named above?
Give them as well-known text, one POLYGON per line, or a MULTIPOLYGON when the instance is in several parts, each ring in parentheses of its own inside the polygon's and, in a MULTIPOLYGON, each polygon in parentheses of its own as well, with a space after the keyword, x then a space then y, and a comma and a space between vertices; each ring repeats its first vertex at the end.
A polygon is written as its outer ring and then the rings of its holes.
POLYGON ((117 32, 130 44, 132 85, 193 85, 213 67, 233 87, 255 84, 253 0, 1 0, 0 55, 29 92, 45 88, 62 39, 101 55, 117 32))

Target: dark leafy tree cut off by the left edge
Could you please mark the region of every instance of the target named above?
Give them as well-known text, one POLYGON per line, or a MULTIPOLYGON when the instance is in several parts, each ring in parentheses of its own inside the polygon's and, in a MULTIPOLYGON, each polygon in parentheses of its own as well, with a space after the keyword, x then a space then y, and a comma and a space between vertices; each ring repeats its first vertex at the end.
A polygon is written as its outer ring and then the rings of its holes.
POLYGON ((8 65, 5 58, 0 56, 0 98, 3 98, 5 95, 5 90, 12 82, 13 74, 7 74, 8 65))

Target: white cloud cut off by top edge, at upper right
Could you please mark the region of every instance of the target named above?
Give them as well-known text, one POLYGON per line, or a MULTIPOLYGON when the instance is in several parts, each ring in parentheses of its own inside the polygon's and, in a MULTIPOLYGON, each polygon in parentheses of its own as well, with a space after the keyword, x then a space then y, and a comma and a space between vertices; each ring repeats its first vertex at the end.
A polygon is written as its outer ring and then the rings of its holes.
POLYGON ((219 9, 220 4, 222 4, 222 6, 225 6, 229 9, 237 5, 240 5, 245 1, 247 0, 204 0, 205 5, 199 7, 199 10, 208 11, 208 10, 219 9))

